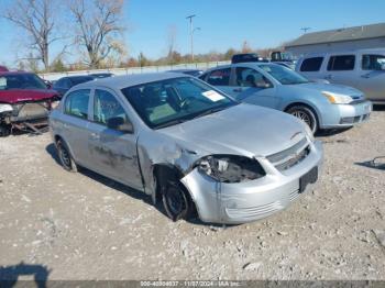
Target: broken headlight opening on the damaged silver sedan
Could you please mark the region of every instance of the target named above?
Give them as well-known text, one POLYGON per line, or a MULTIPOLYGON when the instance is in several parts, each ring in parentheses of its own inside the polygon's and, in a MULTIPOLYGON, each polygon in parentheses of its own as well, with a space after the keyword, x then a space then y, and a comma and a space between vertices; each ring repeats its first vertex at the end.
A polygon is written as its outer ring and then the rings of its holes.
POLYGON ((256 159, 237 155, 211 155, 195 165, 198 170, 220 182, 243 182, 266 175, 256 159))

